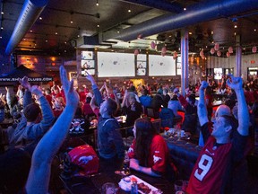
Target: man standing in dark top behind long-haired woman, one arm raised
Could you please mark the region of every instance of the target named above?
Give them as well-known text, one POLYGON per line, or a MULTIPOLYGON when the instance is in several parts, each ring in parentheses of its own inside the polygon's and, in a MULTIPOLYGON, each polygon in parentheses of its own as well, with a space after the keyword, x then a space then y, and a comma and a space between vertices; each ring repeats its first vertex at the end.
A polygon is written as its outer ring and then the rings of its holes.
POLYGON ((99 88, 94 78, 88 74, 86 78, 92 85, 94 97, 96 98, 97 105, 99 106, 99 122, 98 122, 98 149, 99 156, 104 159, 116 159, 124 158, 125 156, 125 145, 120 131, 119 123, 113 117, 116 112, 117 104, 116 101, 107 98, 103 101, 99 88))

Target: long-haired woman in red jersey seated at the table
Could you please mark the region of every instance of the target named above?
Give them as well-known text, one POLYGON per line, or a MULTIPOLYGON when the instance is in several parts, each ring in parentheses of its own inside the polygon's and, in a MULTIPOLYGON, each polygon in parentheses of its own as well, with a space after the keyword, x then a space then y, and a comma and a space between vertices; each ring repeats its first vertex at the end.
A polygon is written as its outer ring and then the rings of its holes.
POLYGON ((150 119, 136 119, 133 134, 133 144, 128 150, 130 168, 155 177, 164 174, 168 165, 168 146, 150 119))

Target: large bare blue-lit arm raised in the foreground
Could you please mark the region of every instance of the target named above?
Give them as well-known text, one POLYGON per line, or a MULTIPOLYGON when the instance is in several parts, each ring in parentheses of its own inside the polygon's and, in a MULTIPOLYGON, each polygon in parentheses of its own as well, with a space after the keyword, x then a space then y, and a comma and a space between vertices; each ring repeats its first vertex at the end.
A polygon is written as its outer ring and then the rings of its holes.
POLYGON ((64 66, 60 66, 60 78, 66 97, 66 106, 53 128, 39 141, 32 155, 30 174, 25 187, 28 194, 47 193, 52 160, 67 135, 78 106, 79 95, 73 89, 73 80, 68 81, 64 66))

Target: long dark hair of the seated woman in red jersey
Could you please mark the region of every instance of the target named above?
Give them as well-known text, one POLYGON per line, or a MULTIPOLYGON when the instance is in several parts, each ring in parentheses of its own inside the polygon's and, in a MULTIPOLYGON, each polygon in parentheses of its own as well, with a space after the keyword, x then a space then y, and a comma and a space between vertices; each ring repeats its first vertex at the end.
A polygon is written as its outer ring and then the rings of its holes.
POLYGON ((157 134, 157 130, 148 118, 136 119, 134 125, 136 128, 135 156, 139 160, 140 165, 147 167, 150 144, 152 138, 157 134))

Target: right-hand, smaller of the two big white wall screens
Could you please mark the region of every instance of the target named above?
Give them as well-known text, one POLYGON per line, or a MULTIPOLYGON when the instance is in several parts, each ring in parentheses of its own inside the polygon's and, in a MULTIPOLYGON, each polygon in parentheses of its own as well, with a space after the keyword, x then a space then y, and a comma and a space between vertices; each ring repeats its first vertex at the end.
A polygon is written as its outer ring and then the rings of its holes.
POLYGON ((176 63, 172 56, 149 56, 149 75, 176 75, 176 63))

